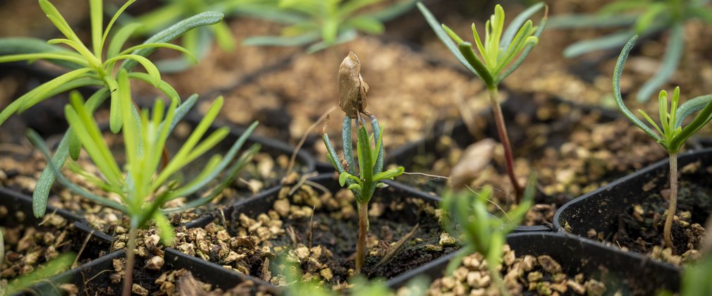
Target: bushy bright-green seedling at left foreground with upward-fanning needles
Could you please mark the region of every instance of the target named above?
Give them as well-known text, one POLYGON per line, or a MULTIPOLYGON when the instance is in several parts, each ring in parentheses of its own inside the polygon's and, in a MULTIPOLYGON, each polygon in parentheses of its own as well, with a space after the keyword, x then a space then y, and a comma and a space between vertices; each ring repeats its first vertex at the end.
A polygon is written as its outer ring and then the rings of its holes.
MULTIPOLYGON (((97 122, 85 106, 79 93, 70 94, 70 104, 65 107, 65 115, 70 128, 80 139, 85 151, 101 174, 95 176, 76 165, 73 166, 73 169, 78 170, 77 173, 80 176, 85 176, 96 188, 106 191, 108 194, 120 196, 121 202, 93 194, 89 190, 71 183, 59 171, 58 166, 52 163, 49 166, 56 174, 58 181, 75 194, 84 196, 100 205, 115 208, 130 218, 123 287, 123 294, 130 295, 134 266, 133 250, 136 248, 138 229, 145 228, 152 221, 159 229, 163 243, 171 245, 174 231, 165 214, 200 206, 219 195, 236 178, 240 169, 250 161, 260 147, 258 144, 254 144, 241 157, 237 157, 238 151, 248 135, 257 126, 257 122, 254 122, 236 140, 224 157, 214 155, 194 179, 187 184, 179 184, 177 176, 180 170, 192 164, 195 159, 215 147, 229 134, 229 128, 222 127, 206 135, 209 126, 220 112, 223 104, 222 97, 218 97, 211 105, 177 154, 161 169, 159 166, 161 154, 169 134, 195 104, 197 95, 193 95, 182 104, 179 103, 179 100, 172 100, 167 109, 162 100, 156 100, 152 112, 136 110, 130 95, 129 74, 125 70, 121 70, 117 79, 120 81, 121 88, 118 98, 120 110, 126 119, 122 126, 125 159, 127 160, 124 166, 119 166, 112 155, 97 122), (211 182, 220 174, 223 176, 219 184, 211 186, 211 182), (169 201, 192 194, 199 194, 202 197, 179 208, 163 208, 169 201)), ((28 138, 47 159, 50 159, 49 151, 38 134, 29 131, 28 138)))

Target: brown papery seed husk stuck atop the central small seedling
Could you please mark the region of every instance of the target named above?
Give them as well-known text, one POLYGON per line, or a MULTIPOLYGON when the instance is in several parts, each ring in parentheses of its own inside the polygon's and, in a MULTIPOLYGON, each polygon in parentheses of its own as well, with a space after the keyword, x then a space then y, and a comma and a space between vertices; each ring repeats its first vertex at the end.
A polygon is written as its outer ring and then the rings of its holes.
POLYGON ((356 118, 366 112, 368 84, 361 76, 361 62, 353 51, 339 65, 339 107, 346 115, 356 118))

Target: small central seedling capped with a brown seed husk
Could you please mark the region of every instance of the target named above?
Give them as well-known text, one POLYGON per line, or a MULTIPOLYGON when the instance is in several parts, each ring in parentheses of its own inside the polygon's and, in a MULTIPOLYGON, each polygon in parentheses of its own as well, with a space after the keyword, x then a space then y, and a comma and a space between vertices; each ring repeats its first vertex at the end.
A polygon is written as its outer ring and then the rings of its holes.
POLYGON ((366 235, 368 233, 368 203, 377 188, 386 184, 380 182, 393 179, 403 174, 403 166, 397 169, 383 171, 383 127, 373 115, 365 111, 368 85, 360 74, 361 64, 354 53, 344 58, 339 68, 340 106, 346 113, 342 125, 342 145, 344 159, 336 154, 331 144, 326 126, 322 131, 324 145, 328 150, 327 157, 339 172, 339 184, 348 185, 348 189, 356 198, 358 209, 358 240, 356 244, 356 273, 361 272, 366 254, 366 235), (369 134, 363 117, 371 120, 372 133, 369 134), (356 154, 358 166, 355 163, 352 143, 352 121, 356 121, 357 139, 356 154), (372 142, 374 142, 372 144, 372 142), (358 170, 357 170, 358 168, 358 170))

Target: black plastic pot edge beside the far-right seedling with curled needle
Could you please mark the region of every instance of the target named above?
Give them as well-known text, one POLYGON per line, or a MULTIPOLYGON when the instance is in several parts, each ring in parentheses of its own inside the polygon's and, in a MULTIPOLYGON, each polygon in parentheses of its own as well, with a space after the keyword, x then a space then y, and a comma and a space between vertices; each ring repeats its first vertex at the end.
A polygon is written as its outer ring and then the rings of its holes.
MULTIPOLYGON (((678 156, 678 167, 682 168, 686 164, 705 159, 708 163, 712 163, 712 148, 701 150, 691 150, 678 156)), ((612 181, 611 183, 591 191, 583 196, 578 197, 565 205, 561 206, 554 214, 554 230, 557 232, 568 233, 566 228, 572 229, 572 236, 577 235, 585 238, 586 232, 590 228, 587 224, 595 226, 597 231, 612 231, 614 224, 611 222, 614 219, 609 216, 619 215, 622 211, 621 207, 627 207, 630 204, 637 202, 638 197, 644 190, 644 184, 651 181, 651 178, 659 179, 659 183, 666 184, 665 176, 669 174, 669 160, 661 159, 659 162, 646 166, 643 169, 633 172, 627 176, 612 181), (630 185, 630 186, 627 186, 630 185), (591 217, 580 217, 584 213, 594 213, 591 217), (566 227, 568 226, 568 227, 566 227)), ((590 240, 585 238, 586 240, 590 240)), ((596 240, 591 240, 596 243, 596 240)), ((601 243, 602 244, 602 243, 601 243)))

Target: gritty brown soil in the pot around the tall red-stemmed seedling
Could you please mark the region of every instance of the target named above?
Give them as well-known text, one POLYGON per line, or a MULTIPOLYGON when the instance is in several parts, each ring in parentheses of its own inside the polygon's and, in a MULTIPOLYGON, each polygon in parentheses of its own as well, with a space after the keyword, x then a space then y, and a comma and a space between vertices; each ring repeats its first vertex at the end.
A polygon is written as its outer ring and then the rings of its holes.
MULTIPOLYGON (((646 134, 604 110, 539 95, 512 95, 503 104, 503 113, 519 183, 524 184, 530 171, 536 171, 543 194, 540 204, 530 211, 527 225, 550 223, 553 212, 563 203, 666 156, 646 134)), ((466 177, 458 178, 473 188, 498 189, 494 201, 506 210, 513 201, 513 189, 491 111, 474 115, 471 125, 475 135, 463 123, 445 122, 435 136, 402 150, 402 155, 393 155, 392 162, 404 165, 409 172, 451 177, 458 165, 478 164, 466 177), (483 139, 496 144, 488 153, 468 156, 468 149, 483 139)), ((441 194, 446 179, 435 176, 406 175, 399 180, 441 194)), ((491 206, 491 211, 500 209, 491 206)))

